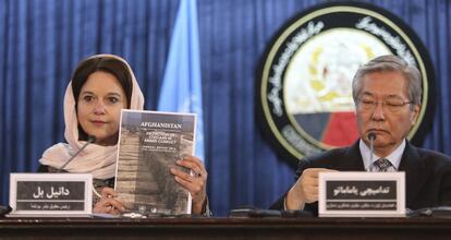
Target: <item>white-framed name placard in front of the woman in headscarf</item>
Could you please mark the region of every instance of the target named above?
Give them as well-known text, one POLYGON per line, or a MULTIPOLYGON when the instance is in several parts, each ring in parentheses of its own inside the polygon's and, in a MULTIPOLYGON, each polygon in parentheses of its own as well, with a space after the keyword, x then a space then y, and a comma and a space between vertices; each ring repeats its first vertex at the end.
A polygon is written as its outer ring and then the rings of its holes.
POLYGON ((11 216, 92 214, 90 173, 11 173, 11 216))

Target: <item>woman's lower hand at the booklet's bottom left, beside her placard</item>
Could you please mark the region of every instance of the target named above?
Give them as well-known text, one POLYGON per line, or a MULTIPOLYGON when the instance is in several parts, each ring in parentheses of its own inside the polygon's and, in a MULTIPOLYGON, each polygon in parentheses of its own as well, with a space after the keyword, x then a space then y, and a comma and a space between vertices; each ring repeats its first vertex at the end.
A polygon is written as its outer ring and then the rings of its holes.
POLYGON ((125 211, 125 207, 115 197, 118 193, 111 188, 103 188, 101 190, 100 201, 96 203, 93 212, 96 214, 114 214, 119 215, 125 211))

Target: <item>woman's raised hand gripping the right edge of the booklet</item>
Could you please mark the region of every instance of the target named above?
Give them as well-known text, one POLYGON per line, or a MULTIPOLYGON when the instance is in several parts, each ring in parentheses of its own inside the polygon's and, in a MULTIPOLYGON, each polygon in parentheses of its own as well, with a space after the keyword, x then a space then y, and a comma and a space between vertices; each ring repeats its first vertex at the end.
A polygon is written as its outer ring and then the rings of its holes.
POLYGON ((207 201, 207 170, 202 161, 194 156, 187 156, 182 160, 176 161, 178 165, 191 169, 193 175, 171 168, 171 173, 174 179, 183 188, 185 188, 193 197, 192 212, 193 214, 203 214, 205 201, 207 201))

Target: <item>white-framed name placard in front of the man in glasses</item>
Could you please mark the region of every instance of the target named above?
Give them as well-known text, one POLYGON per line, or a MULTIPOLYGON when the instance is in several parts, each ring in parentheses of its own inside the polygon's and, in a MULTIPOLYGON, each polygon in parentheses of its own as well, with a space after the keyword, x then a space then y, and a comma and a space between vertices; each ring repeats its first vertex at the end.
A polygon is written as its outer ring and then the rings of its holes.
POLYGON ((404 217, 404 172, 320 172, 320 217, 404 217))

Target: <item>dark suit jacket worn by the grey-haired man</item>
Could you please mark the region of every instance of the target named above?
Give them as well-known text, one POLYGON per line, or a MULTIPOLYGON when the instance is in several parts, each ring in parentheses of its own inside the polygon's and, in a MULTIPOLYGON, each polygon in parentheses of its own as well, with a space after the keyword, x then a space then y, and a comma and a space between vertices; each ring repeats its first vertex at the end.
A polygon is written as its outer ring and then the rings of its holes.
MULTIPOLYGON (((350 147, 331 149, 300 160, 296 180, 304 169, 329 168, 340 171, 364 171, 358 141, 350 147)), ((451 157, 438 152, 405 145, 399 171, 405 171, 406 207, 418 209, 451 205, 451 157)), ((271 209, 283 209, 283 194, 271 209)), ((304 209, 318 214, 318 203, 306 204, 304 209)))

